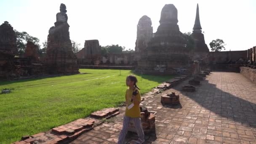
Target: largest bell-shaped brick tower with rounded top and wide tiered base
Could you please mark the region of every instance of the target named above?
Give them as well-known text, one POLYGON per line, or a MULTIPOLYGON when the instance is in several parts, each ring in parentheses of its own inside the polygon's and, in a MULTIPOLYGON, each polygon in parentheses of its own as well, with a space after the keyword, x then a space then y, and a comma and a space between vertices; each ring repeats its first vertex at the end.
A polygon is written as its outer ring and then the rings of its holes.
POLYGON ((185 71, 190 62, 187 38, 179 31, 178 11, 173 4, 161 11, 160 26, 141 54, 137 72, 146 74, 177 74, 185 71))

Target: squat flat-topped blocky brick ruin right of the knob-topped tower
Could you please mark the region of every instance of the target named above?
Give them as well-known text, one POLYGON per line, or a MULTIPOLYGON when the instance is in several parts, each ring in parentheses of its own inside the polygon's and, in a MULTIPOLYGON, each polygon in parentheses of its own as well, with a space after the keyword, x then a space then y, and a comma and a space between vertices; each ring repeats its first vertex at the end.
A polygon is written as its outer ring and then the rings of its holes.
POLYGON ((101 47, 99 40, 85 40, 82 50, 76 53, 80 64, 99 65, 101 62, 101 47))

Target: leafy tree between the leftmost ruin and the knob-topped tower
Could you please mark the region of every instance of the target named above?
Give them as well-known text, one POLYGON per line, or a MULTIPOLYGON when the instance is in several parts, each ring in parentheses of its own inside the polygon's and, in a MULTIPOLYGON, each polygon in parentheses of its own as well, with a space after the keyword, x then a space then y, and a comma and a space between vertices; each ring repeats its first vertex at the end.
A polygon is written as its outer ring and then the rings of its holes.
POLYGON ((37 50, 39 50, 39 39, 37 37, 33 37, 29 35, 27 32, 18 32, 17 30, 14 30, 16 38, 17 38, 17 48, 18 48, 18 54, 19 56, 22 56, 25 53, 27 41, 30 41, 37 45, 37 50))

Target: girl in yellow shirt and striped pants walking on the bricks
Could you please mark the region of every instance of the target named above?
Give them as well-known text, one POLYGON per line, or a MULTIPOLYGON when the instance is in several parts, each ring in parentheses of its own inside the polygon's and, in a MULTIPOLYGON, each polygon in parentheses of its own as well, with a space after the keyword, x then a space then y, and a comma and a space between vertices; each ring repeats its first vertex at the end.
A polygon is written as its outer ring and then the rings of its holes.
POLYGON ((144 142, 144 132, 140 118, 141 112, 139 109, 141 94, 139 92, 139 87, 136 85, 137 82, 137 78, 133 75, 126 77, 126 85, 129 86, 129 88, 127 88, 125 93, 125 117, 123 118, 123 128, 118 139, 118 144, 124 143, 125 136, 128 131, 128 124, 131 120, 133 120, 136 131, 139 135, 139 139, 135 142, 135 144, 142 144, 144 142))

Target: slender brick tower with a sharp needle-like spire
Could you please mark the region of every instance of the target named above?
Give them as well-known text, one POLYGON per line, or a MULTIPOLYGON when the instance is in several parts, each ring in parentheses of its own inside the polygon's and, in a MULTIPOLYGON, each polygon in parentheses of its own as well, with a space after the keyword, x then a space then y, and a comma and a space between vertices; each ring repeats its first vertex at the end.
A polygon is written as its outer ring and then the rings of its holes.
POLYGON ((195 16, 195 24, 193 27, 192 38, 195 40, 195 51, 192 59, 203 59, 209 53, 208 46, 205 44, 205 37, 202 34, 202 27, 200 24, 199 7, 197 4, 197 12, 195 16))

